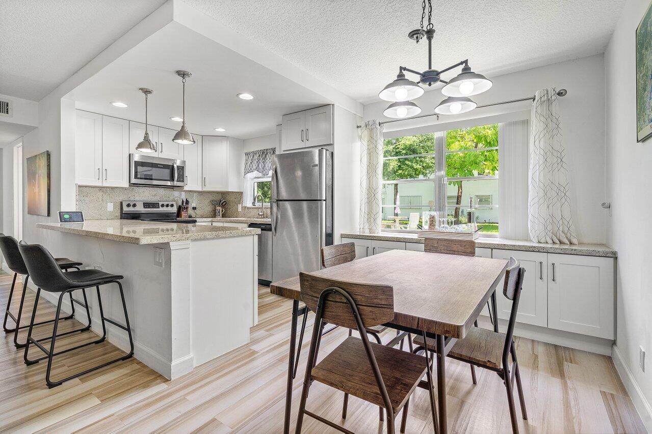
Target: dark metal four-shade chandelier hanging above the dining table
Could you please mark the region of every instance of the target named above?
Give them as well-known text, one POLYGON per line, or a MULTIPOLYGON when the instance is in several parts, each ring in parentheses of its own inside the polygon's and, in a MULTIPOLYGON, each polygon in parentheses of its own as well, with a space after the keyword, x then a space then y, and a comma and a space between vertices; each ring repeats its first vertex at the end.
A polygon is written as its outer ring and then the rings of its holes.
POLYGON ((423 88, 419 84, 432 86, 433 83, 437 82, 445 83, 445 86, 441 88, 441 93, 448 98, 435 107, 435 113, 437 115, 458 115, 459 113, 466 113, 475 109, 477 104, 469 96, 481 94, 492 87, 490 79, 487 79, 482 74, 476 74, 471 71, 468 59, 443 70, 432 69, 432 38, 435 36, 435 29, 432 28, 431 1, 428 0, 428 25, 426 25, 426 29, 423 28, 423 21, 426 18, 426 0, 423 0, 421 4, 421 28, 413 30, 408 34, 408 37, 416 41, 417 44, 422 38, 428 40, 428 70, 418 72, 405 66, 398 67, 396 79, 385 86, 378 94, 381 100, 392 102, 383 111, 383 115, 388 118, 409 118, 410 116, 416 116, 421 113, 421 107, 410 101, 419 98, 424 93, 423 88), (441 79, 441 74, 449 72, 458 66, 462 66, 462 72, 460 74, 449 81, 441 79), (404 74, 406 71, 419 75, 419 80, 415 82, 407 79, 404 74))

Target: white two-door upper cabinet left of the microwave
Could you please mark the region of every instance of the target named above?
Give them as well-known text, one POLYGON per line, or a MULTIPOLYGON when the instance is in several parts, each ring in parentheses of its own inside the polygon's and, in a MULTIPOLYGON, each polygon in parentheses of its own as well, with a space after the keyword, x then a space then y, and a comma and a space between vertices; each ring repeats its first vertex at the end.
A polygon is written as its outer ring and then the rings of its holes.
POLYGON ((76 183, 127 187, 128 158, 128 120, 76 111, 76 183))

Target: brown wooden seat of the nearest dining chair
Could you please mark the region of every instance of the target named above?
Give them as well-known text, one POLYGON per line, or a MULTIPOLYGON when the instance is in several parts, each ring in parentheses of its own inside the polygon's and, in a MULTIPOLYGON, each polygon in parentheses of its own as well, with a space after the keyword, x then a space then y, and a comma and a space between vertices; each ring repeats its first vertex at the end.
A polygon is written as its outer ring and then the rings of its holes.
MULTIPOLYGON (((378 368, 387 385, 394 413, 398 413, 415 390, 426 365, 421 356, 370 342, 378 368)), ((312 378, 342 392, 385 407, 362 340, 349 337, 312 370, 312 378)))

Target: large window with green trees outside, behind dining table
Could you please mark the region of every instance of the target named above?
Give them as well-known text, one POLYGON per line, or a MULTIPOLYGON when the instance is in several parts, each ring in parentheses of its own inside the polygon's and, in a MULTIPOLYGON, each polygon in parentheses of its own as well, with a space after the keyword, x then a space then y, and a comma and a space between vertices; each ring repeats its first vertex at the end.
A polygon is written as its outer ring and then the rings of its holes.
POLYGON ((497 124, 386 139, 382 200, 383 230, 418 230, 423 211, 439 211, 497 234, 497 124))

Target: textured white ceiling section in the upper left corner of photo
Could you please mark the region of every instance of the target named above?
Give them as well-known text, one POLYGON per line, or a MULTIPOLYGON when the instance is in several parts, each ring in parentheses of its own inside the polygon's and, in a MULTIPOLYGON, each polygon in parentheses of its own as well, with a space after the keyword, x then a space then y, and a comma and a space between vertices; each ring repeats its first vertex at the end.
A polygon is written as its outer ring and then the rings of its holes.
POLYGON ((0 94, 38 101, 165 0, 1 0, 0 94))

